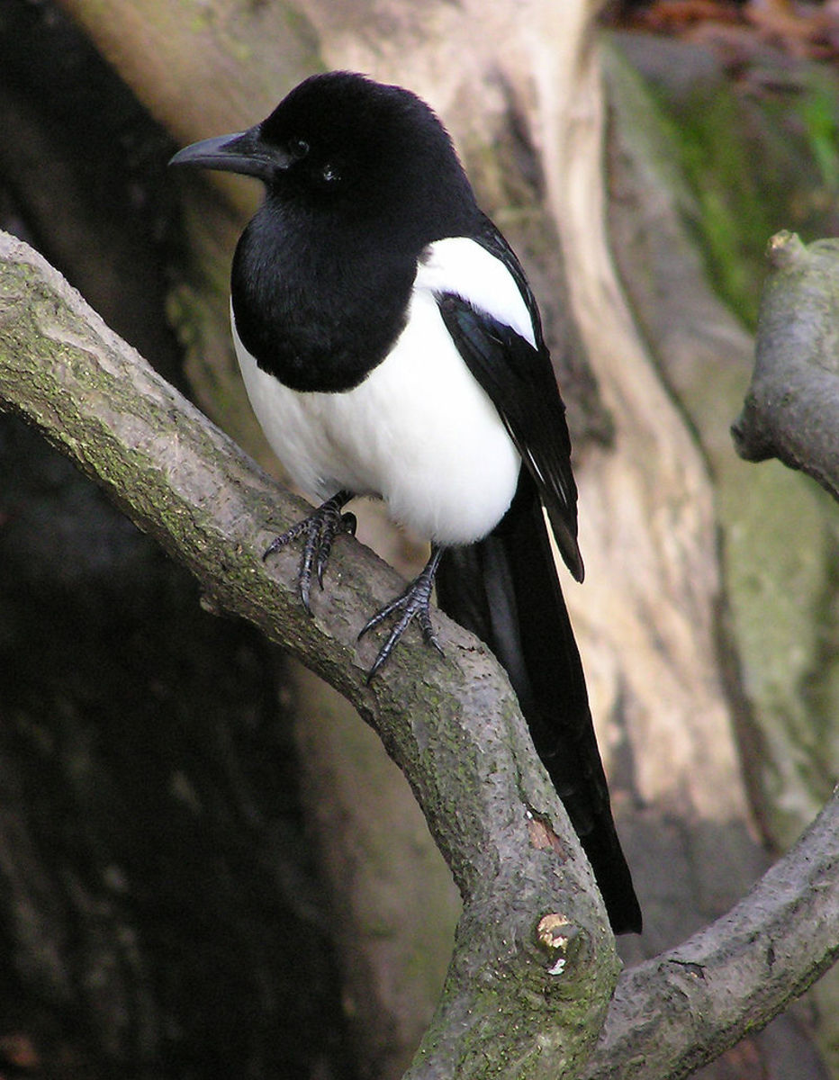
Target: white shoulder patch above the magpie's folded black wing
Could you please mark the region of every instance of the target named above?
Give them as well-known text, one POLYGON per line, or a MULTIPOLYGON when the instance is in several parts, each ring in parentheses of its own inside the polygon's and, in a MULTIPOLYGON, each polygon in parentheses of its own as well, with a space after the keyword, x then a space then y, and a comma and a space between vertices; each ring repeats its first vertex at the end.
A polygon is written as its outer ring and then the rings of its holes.
POLYGON ((420 258, 414 287, 435 296, 452 293, 536 346, 530 312, 513 275, 500 259, 468 237, 430 244, 420 258))

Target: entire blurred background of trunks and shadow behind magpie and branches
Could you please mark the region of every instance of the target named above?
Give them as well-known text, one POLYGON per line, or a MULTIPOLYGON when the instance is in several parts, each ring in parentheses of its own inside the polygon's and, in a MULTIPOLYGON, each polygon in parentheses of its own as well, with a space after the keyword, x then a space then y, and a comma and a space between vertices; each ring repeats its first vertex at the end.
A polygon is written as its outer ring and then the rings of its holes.
MULTIPOLYGON (((728 434, 763 251, 835 235, 839 9, 0 0, 0 228, 276 470, 227 280, 258 185, 170 175, 348 67, 420 93, 519 253, 568 404, 568 598, 645 908, 722 914, 839 774, 836 511, 728 434)), ((375 513, 361 538, 422 558, 375 513)), ((459 901, 334 691, 0 416, 0 1078, 388 1080, 459 901)), ((828 974, 702 1076, 839 1077, 828 974)))

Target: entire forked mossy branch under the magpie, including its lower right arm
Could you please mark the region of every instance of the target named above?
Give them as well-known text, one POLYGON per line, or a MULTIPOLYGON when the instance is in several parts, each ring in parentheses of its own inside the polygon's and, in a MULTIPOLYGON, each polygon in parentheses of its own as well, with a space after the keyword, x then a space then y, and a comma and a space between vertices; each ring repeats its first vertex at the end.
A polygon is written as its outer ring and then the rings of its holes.
MULTIPOLYGON (((40 256, 2 234, 0 402, 186 564, 208 602, 256 623, 346 694, 407 775, 464 896, 443 998, 410 1080, 581 1075, 617 978, 613 941, 486 650, 437 615, 446 658, 402 648, 368 687, 376 644, 360 652, 355 634, 398 589, 393 572, 340 542, 308 618, 295 554, 260 558, 271 530, 299 518, 300 501, 40 256)), ((839 950, 838 819, 834 799, 728 916, 621 978, 586 1076, 685 1076, 825 970, 839 950)))

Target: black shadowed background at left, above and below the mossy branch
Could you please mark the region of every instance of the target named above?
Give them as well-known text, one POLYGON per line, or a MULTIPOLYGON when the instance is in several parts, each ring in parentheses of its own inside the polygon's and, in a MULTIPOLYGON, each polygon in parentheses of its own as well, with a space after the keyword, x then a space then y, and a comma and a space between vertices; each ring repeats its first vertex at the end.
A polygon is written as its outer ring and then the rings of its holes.
MULTIPOLYGON (((0 11, 0 227, 180 383, 168 140, 0 11)), ((0 1074, 351 1078, 282 664, 0 416, 0 1074)), ((290 706, 289 706, 290 707, 290 706)))

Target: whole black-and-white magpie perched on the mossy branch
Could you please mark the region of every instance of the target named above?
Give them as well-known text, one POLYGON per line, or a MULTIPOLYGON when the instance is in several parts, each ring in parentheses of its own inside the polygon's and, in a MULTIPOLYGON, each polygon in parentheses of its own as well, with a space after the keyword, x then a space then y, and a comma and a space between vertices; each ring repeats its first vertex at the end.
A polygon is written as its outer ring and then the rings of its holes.
POLYGON ((233 343, 269 444, 319 504, 266 556, 301 543, 310 609, 333 542, 354 532, 353 499, 383 500, 430 542, 417 578, 361 630, 389 627, 368 678, 411 623, 442 651, 436 588, 506 670, 613 932, 640 932, 545 524, 582 581, 565 405, 525 272, 448 132, 411 91, 327 71, 171 164, 265 187, 233 254, 233 343))

